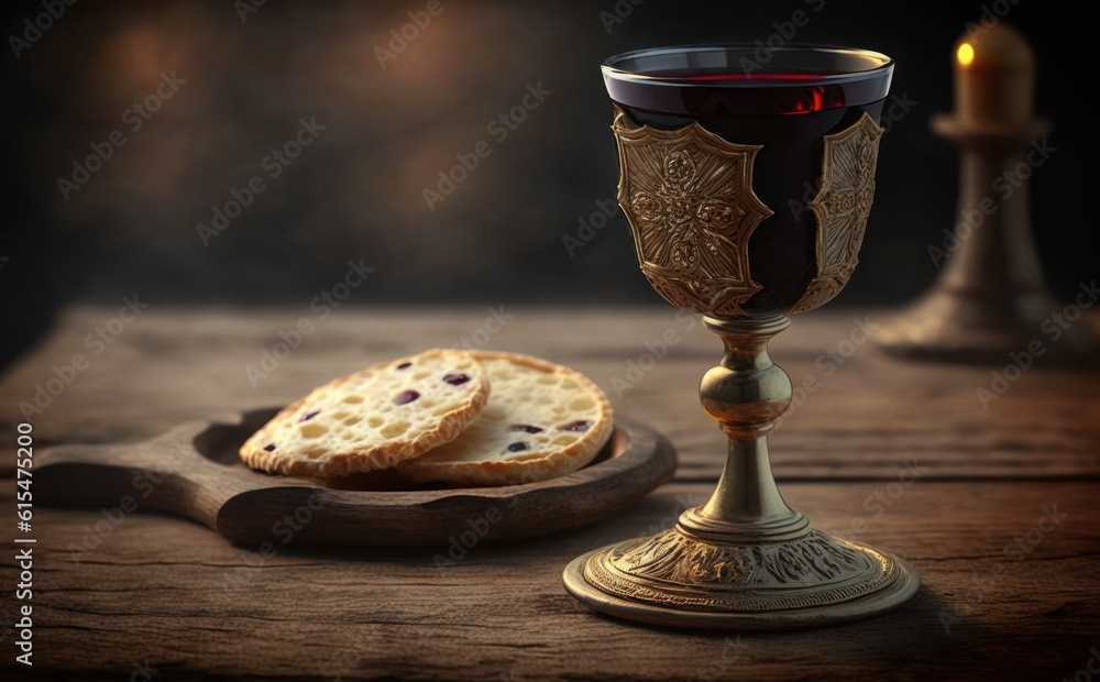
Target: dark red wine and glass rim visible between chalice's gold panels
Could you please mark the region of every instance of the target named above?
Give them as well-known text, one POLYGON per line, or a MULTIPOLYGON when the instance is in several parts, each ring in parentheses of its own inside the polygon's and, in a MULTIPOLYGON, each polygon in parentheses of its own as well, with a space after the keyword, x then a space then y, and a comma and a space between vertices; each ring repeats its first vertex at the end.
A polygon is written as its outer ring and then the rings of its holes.
POLYGON ((806 204, 821 182, 823 138, 876 123, 893 63, 873 52, 789 46, 767 64, 755 46, 706 45, 628 53, 608 59, 612 100, 635 125, 678 130, 693 122, 724 140, 762 145, 752 189, 773 213, 749 240, 751 278, 762 288, 747 315, 783 312, 815 274, 816 226, 806 204))

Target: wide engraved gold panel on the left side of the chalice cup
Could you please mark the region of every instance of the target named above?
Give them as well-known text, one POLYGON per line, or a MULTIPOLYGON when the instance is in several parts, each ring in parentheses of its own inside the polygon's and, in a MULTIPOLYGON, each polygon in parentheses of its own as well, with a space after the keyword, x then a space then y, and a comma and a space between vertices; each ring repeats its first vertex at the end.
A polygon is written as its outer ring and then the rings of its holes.
POLYGON ((612 125, 619 151, 618 202, 641 271, 678 308, 743 315, 762 287, 749 274, 752 230, 772 211, 752 193, 760 146, 733 144, 692 123, 674 131, 612 125))

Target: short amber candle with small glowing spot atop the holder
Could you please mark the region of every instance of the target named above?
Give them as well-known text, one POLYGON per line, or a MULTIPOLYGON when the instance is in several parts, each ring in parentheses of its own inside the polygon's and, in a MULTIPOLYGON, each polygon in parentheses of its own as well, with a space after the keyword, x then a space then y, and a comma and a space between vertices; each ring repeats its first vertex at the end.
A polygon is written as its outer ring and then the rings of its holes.
POLYGON ((1019 31, 977 25, 955 45, 955 116, 963 128, 1016 128, 1032 120, 1035 54, 1019 31))

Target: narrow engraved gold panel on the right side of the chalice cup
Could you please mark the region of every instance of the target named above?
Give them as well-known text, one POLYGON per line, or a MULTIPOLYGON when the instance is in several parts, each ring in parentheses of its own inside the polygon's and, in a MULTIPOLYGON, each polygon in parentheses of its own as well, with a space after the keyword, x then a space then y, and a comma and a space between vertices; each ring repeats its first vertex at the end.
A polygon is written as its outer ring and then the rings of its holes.
POLYGON ((856 270, 875 199, 883 130, 865 112, 846 130, 825 135, 821 189, 807 205, 817 220, 817 273, 790 312, 806 312, 829 301, 856 270))

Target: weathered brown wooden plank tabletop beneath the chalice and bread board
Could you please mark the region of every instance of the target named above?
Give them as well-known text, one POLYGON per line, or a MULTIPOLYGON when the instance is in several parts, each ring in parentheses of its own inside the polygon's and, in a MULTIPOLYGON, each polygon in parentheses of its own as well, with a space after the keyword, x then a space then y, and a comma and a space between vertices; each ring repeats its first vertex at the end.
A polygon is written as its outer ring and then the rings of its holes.
MULTIPOLYGON (((447 568, 429 548, 292 547, 262 558, 193 522, 141 513, 78 554, 70 547, 101 514, 40 507, 34 674, 13 662, 6 629, 4 679, 1060 680, 1100 670, 1097 375, 1023 372, 986 409, 977 388, 990 386, 990 369, 884 358, 872 343, 853 342, 867 327, 855 311, 800 317, 772 344, 795 386, 813 386, 798 392, 801 404, 771 439, 783 493, 818 527, 909 559, 921 591, 899 612, 845 627, 676 632, 593 614, 565 594, 561 572, 588 549, 671 524, 711 491, 723 438, 698 408, 696 387, 719 345, 692 318, 669 308, 505 306, 498 328, 486 324, 485 309, 343 309, 315 320, 254 387, 245 366, 308 310, 151 307, 92 354, 86 336, 116 312, 69 310, 3 378, 8 476, 19 402, 77 352, 89 364, 34 418, 37 447, 132 441, 194 417, 284 404, 367 363, 464 339, 587 373, 619 414, 672 440, 680 469, 596 526, 482 543, 447 568), (630 373, 628 362, 668 329, 675 343, 667 356, 630 373), (906 468, 920 477, 902 486, 906 468), (1040 524, 1044 516, 1057 522, 1040 524)), ((867 321, 884 318, 870 311, 867 321)), ((15 485, 10 477, 0 485, 11 528, 15 485)), ((0 569, 6 625, 16 619, 13 554, 4 552, 0 569)))

